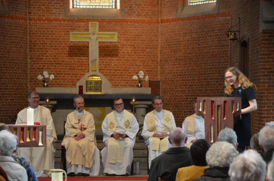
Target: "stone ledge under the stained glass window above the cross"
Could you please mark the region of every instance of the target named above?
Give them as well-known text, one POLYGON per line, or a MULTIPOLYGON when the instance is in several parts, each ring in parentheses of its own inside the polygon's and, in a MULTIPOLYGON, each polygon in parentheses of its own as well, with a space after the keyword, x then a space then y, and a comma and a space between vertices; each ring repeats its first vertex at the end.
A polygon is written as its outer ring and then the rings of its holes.
POLYGON ((64 7, 65 19, 125 19, 125 9, 64 7))

